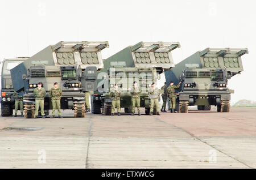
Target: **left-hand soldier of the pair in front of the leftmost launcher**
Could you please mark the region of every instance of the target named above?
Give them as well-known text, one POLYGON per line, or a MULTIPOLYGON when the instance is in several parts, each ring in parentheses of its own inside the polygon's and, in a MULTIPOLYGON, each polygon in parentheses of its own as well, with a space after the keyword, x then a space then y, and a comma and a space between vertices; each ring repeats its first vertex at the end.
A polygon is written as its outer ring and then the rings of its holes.
POLYGON ((35 118, 38 118, 39 105, 41 108, 42 118, 46 118, 44 114, 44 97, 46 97, 46 90, 42 88, 42 83, 38 83, 38 87, 34 89, 35 96, 35 118))

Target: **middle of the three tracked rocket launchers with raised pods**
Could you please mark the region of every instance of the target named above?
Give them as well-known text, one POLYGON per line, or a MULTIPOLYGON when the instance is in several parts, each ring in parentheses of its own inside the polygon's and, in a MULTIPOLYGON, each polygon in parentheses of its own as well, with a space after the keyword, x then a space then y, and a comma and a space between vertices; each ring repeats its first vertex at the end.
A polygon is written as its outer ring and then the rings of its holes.
POLYGON ((121 50, 104 61, 98 74, 98 90, 92 97, 92 112, 110 115, 112 100, 110 88, 121 88, 121 108, 131 113, 131 88, 133 82, 141 87, 141 107, 149 113, 147 89, 160 78, 164 70, 174 67, 171 51, 179 48, 179 42, 139 42, 121 50))

